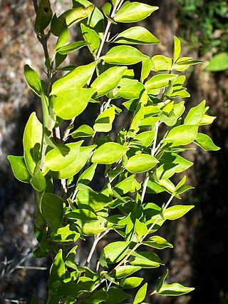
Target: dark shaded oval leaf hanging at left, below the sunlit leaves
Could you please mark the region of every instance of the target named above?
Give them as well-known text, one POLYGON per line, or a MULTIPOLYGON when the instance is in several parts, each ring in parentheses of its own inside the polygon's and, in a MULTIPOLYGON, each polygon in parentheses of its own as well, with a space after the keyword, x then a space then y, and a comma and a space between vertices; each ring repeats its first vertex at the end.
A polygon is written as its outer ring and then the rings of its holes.
POLYGON ((63 200, 52 193, 44 193, 41 201, 41 212, 48 226, 57 232, 63 221, 63 200))

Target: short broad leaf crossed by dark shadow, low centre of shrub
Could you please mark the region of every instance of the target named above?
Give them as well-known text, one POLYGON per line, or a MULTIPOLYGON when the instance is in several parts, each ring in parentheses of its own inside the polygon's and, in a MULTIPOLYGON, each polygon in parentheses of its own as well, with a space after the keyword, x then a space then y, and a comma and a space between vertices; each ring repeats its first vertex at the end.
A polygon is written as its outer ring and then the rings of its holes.
POLYGON ((108 264, 118 263, 128 253, 130 242, 118 241, 113 242, 103 248, 105 260, 108 264))

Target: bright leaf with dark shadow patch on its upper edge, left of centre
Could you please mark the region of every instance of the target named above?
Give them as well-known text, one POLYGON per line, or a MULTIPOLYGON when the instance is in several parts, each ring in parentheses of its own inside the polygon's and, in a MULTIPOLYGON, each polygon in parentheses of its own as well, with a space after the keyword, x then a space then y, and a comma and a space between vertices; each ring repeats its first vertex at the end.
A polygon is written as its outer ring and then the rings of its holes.
MULTIPOLYGON (((52 171, 60 171, 72 163, 79 154, 79 148, 83 141, 78 143, 67 143, 65 146, 61 144, 57 149, 52 149, 46 154, 45 166, 52 171)), ((57 145, 56 145, 57 146, 57 145)))

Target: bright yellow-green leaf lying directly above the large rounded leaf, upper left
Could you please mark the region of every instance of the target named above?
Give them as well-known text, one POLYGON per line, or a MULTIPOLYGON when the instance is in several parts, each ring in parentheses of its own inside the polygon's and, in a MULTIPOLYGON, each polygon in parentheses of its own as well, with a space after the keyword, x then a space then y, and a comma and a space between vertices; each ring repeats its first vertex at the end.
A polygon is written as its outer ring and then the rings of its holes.
POLYGON ((95 62, 86 66, 78 66, 65 76, 53 83, 51 95, 64 95, 67 91, 73 91, 75 88, 82 88, 93 76, 95 62))

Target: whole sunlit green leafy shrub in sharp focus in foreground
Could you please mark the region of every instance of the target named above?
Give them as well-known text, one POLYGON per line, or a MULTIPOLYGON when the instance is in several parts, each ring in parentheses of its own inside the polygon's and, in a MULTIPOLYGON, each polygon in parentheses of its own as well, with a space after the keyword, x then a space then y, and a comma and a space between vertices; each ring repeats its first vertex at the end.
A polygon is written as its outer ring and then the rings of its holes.
MULTIPOLYGON (((199 133, 200 126, 212 123, 214 117, 207 115, 202 101, 182 118, 185 101, 180 99, 190 94, 183 86, 185 76, 177 72, 198 61, 180 57, 177 37, 172 58, 150 58, 133 46, 159 43, 141 26, 110 38, 111 26, 145 19, 157 6, 112 0, 100 11, 87 0, 72 4, 58 17, 48 0, 41 0, 36 10, 34 29, 46 56, 46 83, 28 65, 24 72, 28 86, 41 98, 43 121, 31 113, 24 130, 24 156, 9 156, 9 161, 16 178, 30 183, 35 193, 39 245, 33 255, 49 254, 53 259, 46 303, 121 303, 131 298, 128 290, 133 288, 137 292, 130 301, 142 303, 150 291, 138 271, 164 265, 152 248, 172 248, 155 233, 165 221, 194 207, 170 206, 173 198, 180 199, 192 188, 185 185, 183 173, 193 163, 180 153, 194 144, 204 150, 219 149, 209 136, 199 133), (68 44, 73 24, 80 24, 83 41, 68 44), (57 37, 53 58, 47 49, 51 35, 57 37), (93 57, 90 64, 64 65, 67 55, 82 47, 93 57), (138 63, 140 80, 135 76, 138 63), (61 71, 68 73, 56 80, 61 71), (75 129, 76 118, 93 111, 94 103, 100 106, 98 117, 75 129), (113 135, 123 107, 131 116, 130 125, 113 135), (70 121, 67 128, 63 121, 70 121), (91 181, 98 181, 98 167, 103 170, 103 188, 95 191, 91 181), (177 184, 176 175, 180 175, 177 184), (62 196, 53 190, 59 181, 62 196), (167 193, 166 203, 145 202, 146 193, 161 192, 167 193), (116 233, 120 240, 108 238, 95 260, 98 242, 108 233, 116 233), (88 237, 93 245, 80 265, 77 242, 88 237)), ((167 271, 150 295, 182 295, 194 289, 165 284, 166 276, 167 271)))

